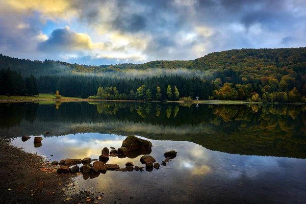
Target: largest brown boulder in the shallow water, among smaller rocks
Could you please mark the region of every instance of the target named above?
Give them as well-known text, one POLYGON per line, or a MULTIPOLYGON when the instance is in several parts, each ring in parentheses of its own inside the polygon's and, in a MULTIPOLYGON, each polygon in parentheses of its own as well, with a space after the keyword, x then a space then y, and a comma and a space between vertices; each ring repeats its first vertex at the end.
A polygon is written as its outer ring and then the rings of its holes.
POLYGON ((140 149, 143 151, 151 151, 152 143, 147 140, 140 139, 135 136, 127 136, 125 140, 123 140, 121 147, 126 147, 127 151, 132 151, 136 149, 140 149))

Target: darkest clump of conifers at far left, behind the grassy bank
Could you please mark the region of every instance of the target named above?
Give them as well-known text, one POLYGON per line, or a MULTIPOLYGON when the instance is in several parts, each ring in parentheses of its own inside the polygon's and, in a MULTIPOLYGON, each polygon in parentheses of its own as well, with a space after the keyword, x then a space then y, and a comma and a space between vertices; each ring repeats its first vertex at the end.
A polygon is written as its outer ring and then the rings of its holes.
POLYGON ((38 95, 37 80, 34 75, 23 79, 17 71, 10 68, 0 70, 0 95, 38 95))

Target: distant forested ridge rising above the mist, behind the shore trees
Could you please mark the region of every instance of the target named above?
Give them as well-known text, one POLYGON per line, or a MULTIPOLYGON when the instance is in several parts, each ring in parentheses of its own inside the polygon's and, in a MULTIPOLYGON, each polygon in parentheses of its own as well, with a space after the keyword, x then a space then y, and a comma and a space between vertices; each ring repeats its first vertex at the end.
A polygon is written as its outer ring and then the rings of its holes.
POLYGON ((122 69, 148 68, 187 68, 207 71, 233 70, 242 77, 269 77, 271 74, 280 80, 286 75, 286 70, 292 69, 304 75, 306 68, 306 47, 277 48, 277 49, 233 49, 218 53, 211 53, 204 57, 190 61, 151 61, 144 64, 118 65, 78 65, 66 62, 44 60, 31 61, 0 55, 0 69, 10 67, 22 75, 49 75, 73 72, 119 72, 122 69))

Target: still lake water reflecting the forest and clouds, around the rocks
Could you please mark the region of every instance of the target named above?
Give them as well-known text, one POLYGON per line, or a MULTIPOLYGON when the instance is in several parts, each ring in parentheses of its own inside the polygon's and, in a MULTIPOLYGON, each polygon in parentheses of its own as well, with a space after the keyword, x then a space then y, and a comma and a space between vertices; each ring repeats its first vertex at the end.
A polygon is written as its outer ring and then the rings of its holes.
MULTIPOLYGON (((159 163, 164 152, 177 151, 151 172, 75 177, 75 190, 103 192, 104 202, 303 203, 305 111, 294 105, 0 104, 0 135, 52 161, 98 158, 104 147, 121 147, 127 135, 149 140, 159 163), (32 136, 42 136, 41 145, 32 136)), ((141 156, 110 157, 108 164, 144 166, 141 156)))

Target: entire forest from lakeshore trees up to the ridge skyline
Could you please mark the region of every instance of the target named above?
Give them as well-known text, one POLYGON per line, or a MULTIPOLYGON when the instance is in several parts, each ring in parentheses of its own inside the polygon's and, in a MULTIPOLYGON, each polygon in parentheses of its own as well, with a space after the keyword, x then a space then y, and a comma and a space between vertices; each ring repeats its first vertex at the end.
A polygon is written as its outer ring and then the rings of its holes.
POLYGON ((205 100, 306 102, 305 47, 233 49, 190 61, 100 66, 31 61, 1 54, 0 68, 1 83, 7 85, 0 94, 36 94, 23 86, 27 79, 35 78, 39 92, 59 90, 64 96, 82 98, 179 100, 198 96, 205 100), (194 74, 175 72, 182 68, 194 74), (124 77, 124 73, 137 70, 140 75, 152 69, 172 72, 124 77))

